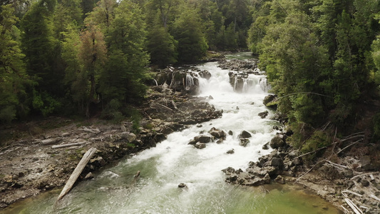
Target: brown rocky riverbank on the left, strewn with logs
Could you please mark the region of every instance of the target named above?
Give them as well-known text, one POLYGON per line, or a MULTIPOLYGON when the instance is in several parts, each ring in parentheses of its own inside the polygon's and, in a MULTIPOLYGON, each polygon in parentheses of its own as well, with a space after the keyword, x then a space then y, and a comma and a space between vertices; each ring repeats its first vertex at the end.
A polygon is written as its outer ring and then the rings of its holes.
POLYGON ((115 125, 98 119, 73 122, 51 117, 26 124, 24 130, 29 136, 15 136, 6 143, 8 146, 0 148, 0 208, 63 186, 91 147, 97 149, 96 154, 79 180, 92 178, 94 171, 120 158, 155 147, 169 133, 222 115, 205 98, 192 97, 186 90, 157 86, 148 91, 148 96, 137 133, 133 133, 131 121, 115 125), (37 127, 58 123, 68 125, 34 133, 37 127))

